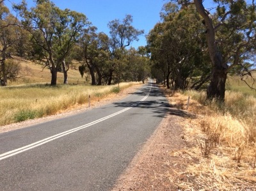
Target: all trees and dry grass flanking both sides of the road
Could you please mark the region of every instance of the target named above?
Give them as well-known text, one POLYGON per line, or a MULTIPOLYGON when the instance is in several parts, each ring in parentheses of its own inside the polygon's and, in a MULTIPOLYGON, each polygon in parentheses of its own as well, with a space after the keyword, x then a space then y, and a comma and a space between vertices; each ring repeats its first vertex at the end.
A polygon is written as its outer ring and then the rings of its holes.
POLYGON ((49 0, 14 4, 20 20, 0 0, 0 125, 66 111, 151 76, 193 116, 183 124, 193 147, 177 155, 198 162, 177 172, 188 179, 175 183, 256 190, 256 4, 204 2, 166 1, 147 46, 135 49, 144 31, 132 15, 109 21, 108 35, 49 0))

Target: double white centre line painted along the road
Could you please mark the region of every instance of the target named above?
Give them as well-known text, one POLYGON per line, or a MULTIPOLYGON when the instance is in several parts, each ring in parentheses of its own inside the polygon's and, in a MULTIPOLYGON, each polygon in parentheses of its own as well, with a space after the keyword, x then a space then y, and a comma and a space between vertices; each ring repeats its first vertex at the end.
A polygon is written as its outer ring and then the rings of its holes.
POLYGON ((8 151, 8 152, 6 152, 6 153, 3 153, 3 154, 0 155, 0 160, 3 160, 4 158, 12 157, 13 155, 17 155, 17 154, 19 154, 19 153, 23 153, 24 151, 28 151, 29 149, 36 148, 36 147, 38 147, 38 146, 40 146, 40 145, 42 145, 42 144, 45 144, 45 143, 47 143, 47 142, 54 141, 55 139, 59 139, 60 137, 66 136, 66 135, 68 135, 68 134, 72 134, 72 133, 74 133, 74 132, 77 132, 77 131, 79 131, 79 130, 82 130, 82 129, 84 129, 84 128, 87 128, 88 126, 95 125, 95 124, 97 124, 97 123, 100 123, 100 122, 102 122, 102 121, 105 121, 106 119, 109 119, 109 118, 112 118, 112 117, 114 117, 114 116, 116 116, 116 115, 118 115, 118 114, 121 114, 122 112, 125 112, 125 111, 131 109, 132 107, 135 107, 135 106, 138 105, 140 102, 143 102, 144 100, 146 100, 147 97, 148 97, 148 95, 150 94, 151 88, 152 88, 152 84, 151 84, 151 86, 150 86, 150 89, 149 89, 147 95, 146 95, 144 98, 142 98, 139 102, 136 102, 136 103, 132 104, 131 107, 127 107, 127 108, 122 109, 121 111, 115 112, 115 113, 113 113, 113 114, 111 114, 111 115, 109 115, 109 116, 106 116, 106 117, 104 117, 104 118, 97 119, 96 121, 93 121, 93 122, 91 122, 91 123, 87 123, 86 125, 82 125, 82 126, 79 126, 79 127, 77 127, 77 128, 72 128, 71 130, 67 130, 67 131, 65 131, 65 132, 62 132, 62 133, 60 133, 60 134, 53 135, 53 136, 51 136, 51 137, 47 137, 47 138, 42 139, 42 140, 40 140, 40 141, 34 142, 34 143, 32 143, 32 144, 28 144, 27 146, 23 146, 23 147, 21 147, 21 148, 14 149, 14 150, 12 150, 12 151, 8 151))

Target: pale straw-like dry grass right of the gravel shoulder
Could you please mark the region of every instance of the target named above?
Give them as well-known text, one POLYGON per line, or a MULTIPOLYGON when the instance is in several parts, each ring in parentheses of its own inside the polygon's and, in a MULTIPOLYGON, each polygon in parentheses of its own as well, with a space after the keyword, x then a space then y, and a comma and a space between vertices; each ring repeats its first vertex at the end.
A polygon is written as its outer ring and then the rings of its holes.
POLYGON ((206 105, 203 92, 166 95, 183 110, 190 96, 188 112, 196 115, 182 122, 184 139, 193 146, 175 153, 199 161, 186 172, 177 172, 177 177, 186 176, 176 180, 181 190, 256 190, 256 98, 227 91, 225 106, 220 107, 206 105))

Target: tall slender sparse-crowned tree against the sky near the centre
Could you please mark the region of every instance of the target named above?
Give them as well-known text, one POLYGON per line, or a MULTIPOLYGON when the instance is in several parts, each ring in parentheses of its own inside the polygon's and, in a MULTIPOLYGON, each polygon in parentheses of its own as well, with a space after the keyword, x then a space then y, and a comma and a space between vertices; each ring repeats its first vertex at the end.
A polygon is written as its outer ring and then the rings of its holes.
POLYGON ((131 15, 125 15, 122 21, 115 19, 108 23, 110 29, 109 47, 111 52, 111 68, 109 70, 108 85, 111 84, 113 79, 116 63, 120 63, 118 61, 122 56, 120 53, 124 52, 125 47, 129 47, 134 40, 138 41, 138 36, 144 33, 143 30, 135 29, 131 25, 132 21, 131 15))

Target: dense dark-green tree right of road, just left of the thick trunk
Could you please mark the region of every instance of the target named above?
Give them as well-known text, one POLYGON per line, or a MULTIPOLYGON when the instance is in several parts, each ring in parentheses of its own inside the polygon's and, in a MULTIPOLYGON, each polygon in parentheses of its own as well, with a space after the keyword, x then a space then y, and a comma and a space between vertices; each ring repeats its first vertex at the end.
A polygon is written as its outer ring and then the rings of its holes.
POLYGON ((148 34, 148 46, 154 61, 154 68, 161 68, 170 88, 185 89, 189 79, 199 70, 196 58, 200 54, 200 20, 195 9, 189 6, 186 10, 179 10, 173 3, 166 3, 161 13, 163 22, 156 24, 148 34), (193 24, 188 26, 188 22, 193 24))

